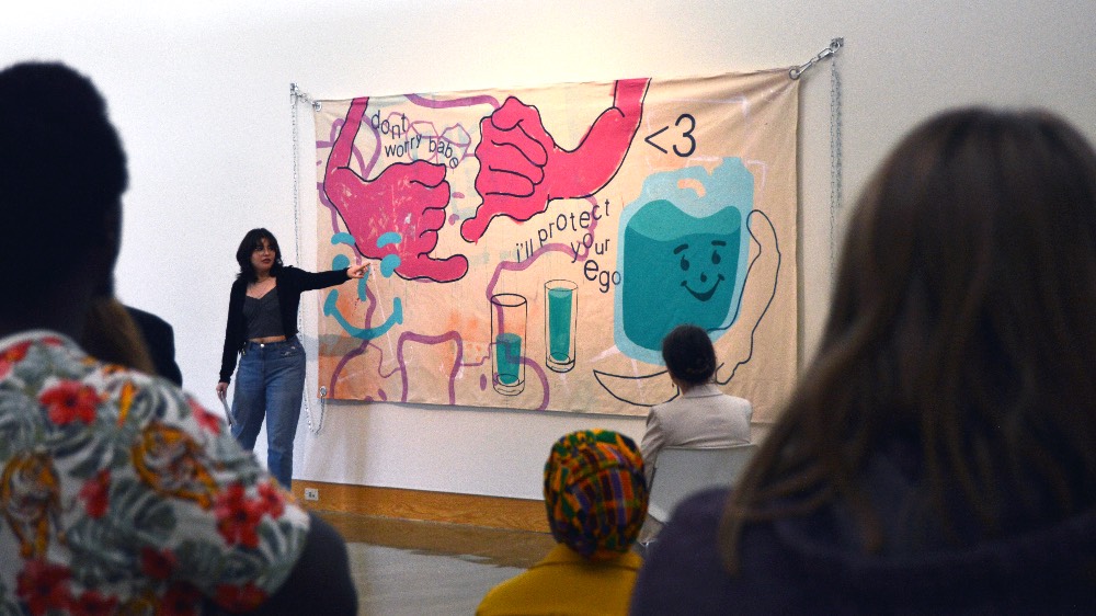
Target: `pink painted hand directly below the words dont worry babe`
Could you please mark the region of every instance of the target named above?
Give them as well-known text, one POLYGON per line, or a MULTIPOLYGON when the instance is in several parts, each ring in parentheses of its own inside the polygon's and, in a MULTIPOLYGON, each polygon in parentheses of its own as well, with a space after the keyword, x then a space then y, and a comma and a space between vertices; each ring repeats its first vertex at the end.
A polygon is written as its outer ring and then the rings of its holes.
POLYGON ((430 254, 437 246, 437 230, 445 225, 445 206, 449 203, 445 166, 423 160, 396 163, 372 181, 350 168, 354 138, 368 103, 368 98, 354 99, 346 112, 346 121, 328 157, 324 194, 339 210, 364 256, 398 255, 396 274, 409 281, 460 280, 468 272, 464 255, 437 259, 430 254), (377 239, 392 231, 400 235, 400 241, 377 247, 377 239))

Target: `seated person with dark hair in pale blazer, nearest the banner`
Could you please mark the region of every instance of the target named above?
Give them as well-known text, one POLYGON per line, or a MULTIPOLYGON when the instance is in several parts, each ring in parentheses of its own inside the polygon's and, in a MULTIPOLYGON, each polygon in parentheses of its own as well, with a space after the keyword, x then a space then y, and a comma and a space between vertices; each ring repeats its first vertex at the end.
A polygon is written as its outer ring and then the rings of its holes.
POLYGON ((647 415, 640 449, 651 483, 663 447, 728 447, 750 442, 749 400, 728 396, 712 383, 716 350, 708 332, 683 324, 662 339, 662 358, 681 396, 658 404, 647 415))

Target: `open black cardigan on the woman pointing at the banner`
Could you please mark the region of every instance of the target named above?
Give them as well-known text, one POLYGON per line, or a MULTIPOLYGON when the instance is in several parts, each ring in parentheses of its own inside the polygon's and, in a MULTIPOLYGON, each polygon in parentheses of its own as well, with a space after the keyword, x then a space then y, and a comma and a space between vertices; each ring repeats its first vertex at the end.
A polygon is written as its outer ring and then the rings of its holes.
MULTIPOLYGON (((297 333, 297 310, 300 308, 300 294, 315 288, 335 286, 350 280, 346 270, 332 270, 313 274, 296 267, 286 266, 277 275, 277 300, 282 311, 282 331, 289 338, 297 333)), ((247 328, 243 323, 243 298, 247 296, 248 282, 237 278, 228 296, 228 324, 225 326, 225 350, 220 356, 220 381, 229 383, 236 370, 236 357, 247 342, 247 328)))

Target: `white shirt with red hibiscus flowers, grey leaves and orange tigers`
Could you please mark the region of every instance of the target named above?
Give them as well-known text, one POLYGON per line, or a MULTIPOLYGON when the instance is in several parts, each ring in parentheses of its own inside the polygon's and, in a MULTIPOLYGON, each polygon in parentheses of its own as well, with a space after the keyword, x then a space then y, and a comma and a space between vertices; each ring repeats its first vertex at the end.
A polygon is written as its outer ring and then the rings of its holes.
POLYGON ((0 340, 0 616, 256 607, 307 514, 169 381, 47 331, 0 340))

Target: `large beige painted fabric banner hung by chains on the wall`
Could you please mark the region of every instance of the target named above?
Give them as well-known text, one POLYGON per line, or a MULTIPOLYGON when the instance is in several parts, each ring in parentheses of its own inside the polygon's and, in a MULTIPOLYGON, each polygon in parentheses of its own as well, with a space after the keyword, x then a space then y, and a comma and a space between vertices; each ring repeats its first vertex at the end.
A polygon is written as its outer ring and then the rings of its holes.
POLYGON ((796 376, 798 81, 784 69, 362 96, 316 112, 329 398, 646 414, 710 332, 773 419, 796 376))

